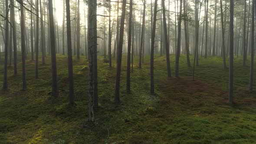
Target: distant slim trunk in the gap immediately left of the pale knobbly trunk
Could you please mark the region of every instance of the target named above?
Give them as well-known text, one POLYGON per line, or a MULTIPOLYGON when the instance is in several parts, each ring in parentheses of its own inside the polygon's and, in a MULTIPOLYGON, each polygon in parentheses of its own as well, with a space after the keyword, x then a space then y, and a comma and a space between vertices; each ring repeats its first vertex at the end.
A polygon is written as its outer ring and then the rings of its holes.
POLYGON ((77 21, 76 21, 76 59, 80 59, 80 4, 77 1, 77 21))

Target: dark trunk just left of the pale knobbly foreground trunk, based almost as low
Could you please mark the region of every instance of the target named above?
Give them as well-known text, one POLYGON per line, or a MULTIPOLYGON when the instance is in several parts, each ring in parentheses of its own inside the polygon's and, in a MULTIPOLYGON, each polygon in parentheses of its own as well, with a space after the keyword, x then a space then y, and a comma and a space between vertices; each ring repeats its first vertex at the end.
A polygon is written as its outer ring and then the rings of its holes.
MULTIPOLYGON (((64 4, 64 2, 63 2, 63 4, 64 4)), ((69 65, 69 104, 74 105, 75 98, 74 98, 74 84, 73 84, 74 82, 73 82, 73 62, 72 62, 72 44, 71 44, 72 41, 71 41, 71 23, 70 23, 69 0, 66 0, 66 20, 67 20, 67 22, 66 22, 67 23, 67 41, 68 41, 67 49, 68 49, 68 65, 69 65)), ((62 36, 64 36, 64 35, 62 35, 62 36)))

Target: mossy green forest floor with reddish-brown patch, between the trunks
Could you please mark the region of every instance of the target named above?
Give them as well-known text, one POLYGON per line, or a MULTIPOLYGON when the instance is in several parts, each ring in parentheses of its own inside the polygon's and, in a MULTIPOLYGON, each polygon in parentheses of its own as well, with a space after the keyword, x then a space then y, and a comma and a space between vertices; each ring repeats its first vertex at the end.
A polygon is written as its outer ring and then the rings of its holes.
MULTIPOLYGON (((66 56, 57 55, 61 90, 56 98, 50 95, 49 56, 45 65, 41 65, 39 58, 39 79, 34 78, 35 62, 26 61, 26 90, 22 90, 21 62, 17 76, 9 66, 9 89, 0 89, 0 143, 244 144, 256 141, 256 92, 248 91, 249 60, 247 66, 242 66, 242 57, 235 57, 235 105, 231 106, 228 104, 229 69, 223 69, 219 56, 200 57, 195 81, 192 81, 192 67, 187 67, 184 55, 180 60, 180 78, 167 78, 165 57, 156 56, 155 95, 150 95, 149 56, 144 57, 142 69, 138 69, 138 57, 135 57, 131 94, 126 94, 126 58, 123 56, 121 68, 121 104, 115 105, 116 60, 112 60, 113 68, 108 68, 103 57, 98 57, 99 107, 95 108, 92 129, 86 128, 89 72, 85 56, 80 60, 73 56, 73 107, 69 106, 66 56)), ((173 55, 171 70, 174 75, 173 55)), ((0 74, 2 85, 3 57, 0 74)))

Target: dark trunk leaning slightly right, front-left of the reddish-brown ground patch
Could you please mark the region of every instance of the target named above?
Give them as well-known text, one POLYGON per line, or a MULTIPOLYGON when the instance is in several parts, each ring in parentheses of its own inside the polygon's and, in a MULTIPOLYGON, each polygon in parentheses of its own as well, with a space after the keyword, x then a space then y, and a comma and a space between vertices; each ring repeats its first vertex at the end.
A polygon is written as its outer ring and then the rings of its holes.
POLYGON ((150 92, 154 94, 154 39, 156 31, 156 21, 157 21, 157 8, 158 0, 154 1, 154 18, 152 26, 152 35, 151 35, 151 52, 150 52, 150 92))

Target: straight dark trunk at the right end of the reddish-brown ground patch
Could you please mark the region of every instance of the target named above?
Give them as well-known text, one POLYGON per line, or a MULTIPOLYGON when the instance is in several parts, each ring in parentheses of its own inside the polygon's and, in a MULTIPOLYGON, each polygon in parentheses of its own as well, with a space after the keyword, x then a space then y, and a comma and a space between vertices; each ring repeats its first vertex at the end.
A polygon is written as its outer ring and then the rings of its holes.
MULTIPOLYGON (((253 0, 254 1, 254 0, 253 0)), ((252 15, 254 17, 254 14, 252 15)), ((234 1, 230 0, 230 82, 229 82, 229 102, 233 105, 233 57, 234 57, 234 1)))

